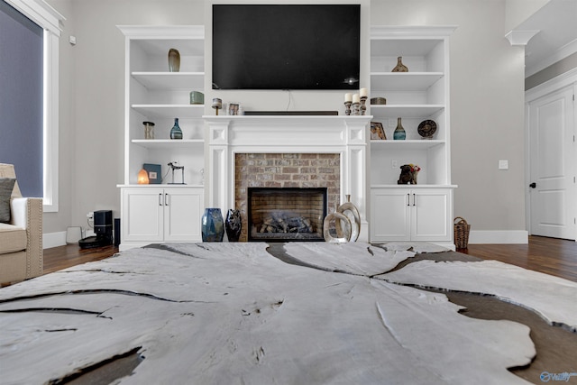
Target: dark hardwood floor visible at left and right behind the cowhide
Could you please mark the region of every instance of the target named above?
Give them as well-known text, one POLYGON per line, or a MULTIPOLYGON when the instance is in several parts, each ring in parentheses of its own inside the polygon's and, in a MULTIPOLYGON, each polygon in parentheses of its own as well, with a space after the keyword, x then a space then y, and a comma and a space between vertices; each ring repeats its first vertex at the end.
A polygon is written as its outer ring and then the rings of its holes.
MULTIPOLYGON (((81 250, 66 245, 44 250, 44 274, 87 261, 105 259, 118 252, 114 246, 81 250)), ((458 250, 484 260, 497 260, 529 270, 577 282, 577 243, 563 239, 530 236, 528 244, 469 244, 458 250)))

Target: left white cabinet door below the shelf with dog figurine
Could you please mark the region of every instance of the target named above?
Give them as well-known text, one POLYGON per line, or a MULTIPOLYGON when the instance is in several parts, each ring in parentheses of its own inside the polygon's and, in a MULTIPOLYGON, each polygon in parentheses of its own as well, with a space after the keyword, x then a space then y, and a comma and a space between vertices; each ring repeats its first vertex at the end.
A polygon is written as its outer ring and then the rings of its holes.
POLYGON ((371 242, 410 238, 409 190, 371 189, 371 242))

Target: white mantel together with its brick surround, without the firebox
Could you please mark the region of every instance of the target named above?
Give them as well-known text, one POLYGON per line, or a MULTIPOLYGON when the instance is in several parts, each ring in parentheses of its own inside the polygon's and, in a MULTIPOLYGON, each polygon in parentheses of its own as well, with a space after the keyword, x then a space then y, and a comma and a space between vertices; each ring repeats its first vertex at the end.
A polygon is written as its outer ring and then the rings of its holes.
POLYGON ((204 116, 208 126, 207 207, 241 210, 248 240, 248 188, 326 188, 327 213, 350 194, 366 221, 366 132, 371 116, 204 116))

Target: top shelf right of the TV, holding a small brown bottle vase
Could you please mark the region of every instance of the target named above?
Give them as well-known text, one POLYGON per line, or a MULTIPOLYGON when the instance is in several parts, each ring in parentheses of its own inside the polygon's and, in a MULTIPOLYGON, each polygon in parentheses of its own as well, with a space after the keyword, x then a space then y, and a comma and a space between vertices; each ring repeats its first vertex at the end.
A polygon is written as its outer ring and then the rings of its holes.
POLYGON ((371 72, 371 91, 425 91, 443 72, 371 72))

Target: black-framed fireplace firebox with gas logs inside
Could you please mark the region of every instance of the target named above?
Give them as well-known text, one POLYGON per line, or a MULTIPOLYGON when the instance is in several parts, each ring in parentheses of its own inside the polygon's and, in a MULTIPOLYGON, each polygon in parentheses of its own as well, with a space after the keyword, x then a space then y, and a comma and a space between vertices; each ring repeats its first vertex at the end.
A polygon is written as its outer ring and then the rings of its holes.
POLYGON ((248 188, 248 240, 324 241, 327 188, 248 188))

